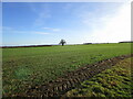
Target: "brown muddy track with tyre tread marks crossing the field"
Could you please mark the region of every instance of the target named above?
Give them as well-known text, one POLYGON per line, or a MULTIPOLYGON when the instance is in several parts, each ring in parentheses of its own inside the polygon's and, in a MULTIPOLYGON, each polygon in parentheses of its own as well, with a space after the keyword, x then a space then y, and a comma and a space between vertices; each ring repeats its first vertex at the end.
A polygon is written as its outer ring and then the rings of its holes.
POLYGON ((81 67, 74 72, 68 73, 64 76, 50 81, 45 85, 41 85, 38 87, 32 87, 27 91, 24 95, 25 97, 61 97, 66 91, 71 90, 72 88, 76 87, 83 80, 86 80, 94 75, 111 68, 117 62, 131 57, 132 55, 122 55, 109 59, 104 59, 98 62, 93 65, 86 65, 81 67))

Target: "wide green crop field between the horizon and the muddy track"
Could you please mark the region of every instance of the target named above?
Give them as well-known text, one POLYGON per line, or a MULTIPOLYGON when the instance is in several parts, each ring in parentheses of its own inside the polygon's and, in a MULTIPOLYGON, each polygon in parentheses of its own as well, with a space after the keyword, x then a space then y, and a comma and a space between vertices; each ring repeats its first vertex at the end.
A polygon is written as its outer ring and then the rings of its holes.
POLYGON ((23 92, 86 64, 126 54, 131 54, 131 43, 3 48, 3 96, 23 92))

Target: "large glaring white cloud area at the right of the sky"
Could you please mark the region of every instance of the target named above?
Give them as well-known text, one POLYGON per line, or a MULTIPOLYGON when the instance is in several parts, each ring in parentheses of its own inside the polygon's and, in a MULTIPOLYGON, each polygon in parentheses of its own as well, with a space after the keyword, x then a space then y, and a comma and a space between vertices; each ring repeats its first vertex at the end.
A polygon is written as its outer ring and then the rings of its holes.
MULTIPOLYGON (((112 13, 113 14, 113 13, 112 13)), ((102 16, 100 28, 92 31, 88 42, 121 42, 131 40, 131 6, 123 4, 114 15, 102 16)))

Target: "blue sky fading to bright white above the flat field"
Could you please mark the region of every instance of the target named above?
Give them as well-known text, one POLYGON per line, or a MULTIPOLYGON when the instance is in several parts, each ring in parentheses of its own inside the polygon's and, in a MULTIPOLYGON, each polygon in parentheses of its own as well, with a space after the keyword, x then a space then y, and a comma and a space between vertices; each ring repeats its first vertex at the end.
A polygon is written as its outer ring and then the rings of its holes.
POLYGON ((131 40, 123 2, 3 2, 2 45, 116 43, 131 40))

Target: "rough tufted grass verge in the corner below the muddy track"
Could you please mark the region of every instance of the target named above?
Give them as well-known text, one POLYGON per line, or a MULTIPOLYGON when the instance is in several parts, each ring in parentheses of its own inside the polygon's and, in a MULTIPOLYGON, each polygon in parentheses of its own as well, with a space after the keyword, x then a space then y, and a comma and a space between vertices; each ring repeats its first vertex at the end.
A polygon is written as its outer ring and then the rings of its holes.
POLYGON ((66 97, 122 97, 132 99, 131 59, 126 58, 111 69, 81 82, 79 87, 65 94, 66 97))

